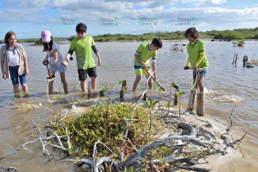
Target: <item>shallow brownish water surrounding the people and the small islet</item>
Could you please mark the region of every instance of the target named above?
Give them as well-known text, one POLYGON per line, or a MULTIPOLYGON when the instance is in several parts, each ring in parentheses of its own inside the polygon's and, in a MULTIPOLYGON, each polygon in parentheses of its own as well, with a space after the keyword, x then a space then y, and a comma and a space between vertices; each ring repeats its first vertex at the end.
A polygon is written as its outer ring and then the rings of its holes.
MULTIPOLYGON (((142 90, 138 90, 136 94, 132 92, 133 82, 135 79, 133 68, 134 52, 141 42, 102 42, 96 43, 99 50, 102 64, 97 67, 98 71, 98 86, 102 82, 108 86, 114 85, 119 80, 127 80, 128 91, 126 93, 127 101, 136 101, 142 90)), ((173 42, 174 43, 174 42, 173 42)), ((181 43, 187 44, 183 41, 181 43)), ((181 44, 180 43, 180 44, 181 44)), ((244 138, 241 143, 241 149, 244 153, 244 158, 238 161, 233 161, 231 164, 226 164, 224 168, 227 171, 254 171, 257 168, 257 153, 258 153, 258 85, 257 74, 258 67, 246 68, 243 67, 242 59, 244 55, 252 58, 254 50, 257 49, 257 41, 246 41, 244 47, 232 47, 232 42, 209 42, 204 41, 207 59, 209 61, 209 69, 204 79, 205 85, 205 113, 207 118, 212 118, 222 123, 227 123, 226 117, 235 102, 239 103, 239 107, 235 112, 236 125, 232 129, 234 138, 240 138, 246 131, 250 133, 244 138), (238 53, 237 64, 232 65, 234 53, 238 53)), ((184 71, 183 67, 187 62, 187 51, 171 53, 171 42, 163 42, 163 48, 158 50, 157 57, 157 76, 158 81, 163 84, 165 92, 161 93, 162 101, 168 99, 170 93, 169 82, 175 81, 181 83, 192 82, 192 72, 184 71)), ((50 107, 58 112, 57 103, 53 101, 53 96, 50 95, 50 102, 46 95, 46 67, 42 65, 45 58, 45 53, 42 53, 41 46, 24 46, 28 57, 28 65, 30 74, 27 76, 27 84, 29 89, 29 101, 35 106, 32 109, 27 105, 25 100, 21 101, 24 109, 15 103, 13 98, 13 89, 11 80, 0 79, 0 110, 1 110, 1 126, 0 126, 0 157, 9 154, 20 147, 27 141, 34 140, 39 137, 38 134, 31 133, 26 122, 30 119, 41 122, 42 130, 48 122, 48 117, 42 108, 38 105, 42 103, 50 103, 50 107)), ((69 44, 60 45, 60 50, 63 56, 67 53, 69 44)), ((75 55, 74 55, 75 57, 75 55)), ((96 57, 94 57, 96 62, 96 57)), ((257 56, 255 57, 257 59, 257 56)), ((56 74, 57 80, 54 82, 54 93, 59 93, 60 76, 56 74)), ((68 99, 70 102, 75 100, 72 87, 77 84, 78 73, 76 69, 76 61, 69 63, 68 71, 66 72, 66 80, 68 83, 68 99)), ((146 78, 142 78, 142 82, 146 82, 146 78)), ((119 87, 117 87, 119 88, 119 87)), ((115 86, 109 90, 108 96, 116 99, 118 97, 118 89, 115 86)), ((143 87, 142 87, 143 88, 143 87)), ((186 95, 181 98, 182 108, 187 108, 189 88, 186 89, 186 95)), ((80 92, 80 87, 76 89, 76 93, 80 92)), ((95 92, 98 92, 95 91, 95 92)), ((151 97, 154 90, 149 90, 147 96, 151 97)), ((157 95, 157 91, 156 91, 157 95)), ((88 102, 87 98, 83 98, 82 105, 77 105, 75 112, 71 115, 78 115, 90 109, 90 105, 95 104, 98 98, 96 95, 88 102)), ((64 96, 61 96, 60 106, 62 112, 69 111, 69 105, 64 96)), ((80 171, 83 167, 76 167, 71 162, 60 163, 54 165, 62 159, 69 158, 67 155, 61 155, 60 150, 48 148, 52 161, 46 162, 47 158, 43 155, 41 144, 39 142, 31 143, 26 146, 30 151, 21 149, 15 155, 2 159, 0 167, 15 167, 20 171, 80 171), (36 146, 35 146, 36 145, 36 146)), ((0 168, 1 170, 1 168, 0 168)))

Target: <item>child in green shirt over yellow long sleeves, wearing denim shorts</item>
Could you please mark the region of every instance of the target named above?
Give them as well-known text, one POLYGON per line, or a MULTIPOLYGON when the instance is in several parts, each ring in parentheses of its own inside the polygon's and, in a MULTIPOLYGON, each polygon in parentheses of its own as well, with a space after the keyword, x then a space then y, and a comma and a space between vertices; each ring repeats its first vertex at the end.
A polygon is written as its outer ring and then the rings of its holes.
MULTIPOLYGON (((193 70, 196 70, 197 68, 200 67, 209 67, 209 62, 206 57, 205 53, 205 47, 204 43, 201 40, 198 40, 199 33, 196 30, 195 27, 191 27, 186 30, 184 33, 184 36, 187 37, 189 43, 187 44, 187 52, 188 52, 188 61, 186 64, 186 67, 189 67, 190 65, 193 70)), ((206 70, 201 71, 199 73, 199 78, 197 78, 196 86, 195 88, 200 89, 200 92, 204 91, 204 86, 203 86, 203 79, 204 76, 206 75, 206 70)), ((197 73, 193 71, 193 82, 196 80, 196 75, 197 73)))

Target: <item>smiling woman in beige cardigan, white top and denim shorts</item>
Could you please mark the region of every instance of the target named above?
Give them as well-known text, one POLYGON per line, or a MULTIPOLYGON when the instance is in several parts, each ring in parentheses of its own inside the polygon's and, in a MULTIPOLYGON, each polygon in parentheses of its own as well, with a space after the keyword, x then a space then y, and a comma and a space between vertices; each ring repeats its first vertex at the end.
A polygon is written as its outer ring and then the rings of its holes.
POLYGON ((3 79, 11 78, 14 93, 19 92, 19 80, 23 91, 28 91, 26 75, 29 74, 27 56, 21 44, 16 43, 16 35, 9 31, 4 37, 6 45, 0 49, 3 79), (19 78, 19 80, 18 80, 19 78))

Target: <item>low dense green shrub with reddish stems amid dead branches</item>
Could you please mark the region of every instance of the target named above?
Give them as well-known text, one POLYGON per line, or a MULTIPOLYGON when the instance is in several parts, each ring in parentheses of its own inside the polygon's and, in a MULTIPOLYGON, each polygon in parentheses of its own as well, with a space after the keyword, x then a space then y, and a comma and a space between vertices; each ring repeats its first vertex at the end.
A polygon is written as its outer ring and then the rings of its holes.
MULTIPOLYGON (((92 154, 94 142, 100 140, 106 144, 113 152, 118 152, 123 141, 125 119, 136 119, 129 123, 128 138, 135 144, 144 145, 158 139, 156 134, 163 130, 159 123, 152 124, 152 130, 149 130, 149 112, 148 109, 138 106, 132 115, 132 103, 109 105, 107 111, 106 105, 98 104, 92 110, 75 117, 66 118, 62 124, 68 127, 68 135, 71 139, 71 151, 80 147, 80 155, 85 157, 92 154), (109 112, 109 113, 108 113, 109 112), (154 134, 152 134, 154 133, 154 134)), ((65 135, 63 127, 55 126, 55 132, 58 135, 65 135)), ((133 154, 134 148, 127 142, 125 157, 133 154)), ((96 157, 110 155, 111 153, 103 145, 97 146, 96 157)), ((119 153, 113 158, 118 160, 119 153)))

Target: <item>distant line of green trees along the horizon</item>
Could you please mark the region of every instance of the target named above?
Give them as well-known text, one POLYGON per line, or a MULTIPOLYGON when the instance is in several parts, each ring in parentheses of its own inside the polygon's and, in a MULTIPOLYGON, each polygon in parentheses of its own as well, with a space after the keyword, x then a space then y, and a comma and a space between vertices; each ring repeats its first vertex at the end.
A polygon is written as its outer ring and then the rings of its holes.
MULTIPOLYGON (((180 40, 185 39, 184 37, 185 31, 152 31, 149 33, 144 33, 140 35, 140 41, 144 40, 153 40, 158 37, 163 40, 180 40)), ((201 38, 213 38, 213 39, 231 39, 231 40, 241 40, 241 39, 258 39, 258 27, 256 28, 244 28, 244 29, 233 29, 233 30, 211 30, 206 32, 199 32, 201 38)), ((76 35, 72 35, 71 37, 54 37, 54 41, 71 41, 76 37, 76 35)), ((139 35, 132 34, 103 34, 93 36, 94 41, 129 41, 129 40, 139 40, 139 35)), ((41 45, 40 38, 28 38, 28 39, 18 39, 18 43, 32 43, 35 45, 41 45)), ((4 43, 4 40, 0 40, 0 44, 4 43)))

